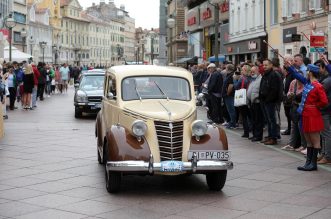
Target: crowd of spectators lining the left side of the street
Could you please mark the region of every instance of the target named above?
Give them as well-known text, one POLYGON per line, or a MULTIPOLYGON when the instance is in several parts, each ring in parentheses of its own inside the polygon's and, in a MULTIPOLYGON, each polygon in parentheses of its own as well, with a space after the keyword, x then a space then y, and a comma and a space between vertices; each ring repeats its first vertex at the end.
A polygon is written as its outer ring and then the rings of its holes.
POLYGON ((4 119, 8 119, 8 110, 33 110, 37 100, 55 93, 66 93, 68 83, 79 77, 82 68, 63 65, 51 65, 39 62, 18 63, 0 60, 0 97, 4 119))

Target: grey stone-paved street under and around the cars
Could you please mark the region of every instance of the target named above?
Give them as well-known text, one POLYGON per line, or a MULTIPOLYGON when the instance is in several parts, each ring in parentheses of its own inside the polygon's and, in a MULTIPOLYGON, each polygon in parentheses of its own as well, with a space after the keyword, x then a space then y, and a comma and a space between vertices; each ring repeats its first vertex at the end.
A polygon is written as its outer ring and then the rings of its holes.
POLYGON ((331 166, 299 172, 302 156, 251 143, 242 130, 227 131, 235 167, 222 192, 210 192, 204 176, 127 176, 108 194, 95 117, 74 118, 73 88, 38 104, 5 121, 0 219, 330 218, 331 166))

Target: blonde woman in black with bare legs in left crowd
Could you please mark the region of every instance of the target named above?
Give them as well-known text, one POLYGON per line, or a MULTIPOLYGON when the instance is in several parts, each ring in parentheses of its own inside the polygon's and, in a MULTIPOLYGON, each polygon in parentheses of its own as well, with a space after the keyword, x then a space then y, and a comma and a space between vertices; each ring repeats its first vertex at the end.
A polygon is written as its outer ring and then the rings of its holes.
POLYGON ((24 79, 23 79, 23 96, 22 96, 22 106, 23 109, 32 110, 31 104, 31 94, 34 87, 34 75, 31 64, 26 64, 24 69, 24 79))

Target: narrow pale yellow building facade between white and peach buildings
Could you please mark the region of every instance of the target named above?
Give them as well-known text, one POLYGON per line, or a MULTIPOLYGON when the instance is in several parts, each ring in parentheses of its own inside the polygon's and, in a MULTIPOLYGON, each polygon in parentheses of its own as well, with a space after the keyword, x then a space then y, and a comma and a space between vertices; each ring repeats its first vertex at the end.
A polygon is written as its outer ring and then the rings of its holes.
POLYGON ((276 52, 282 53, 282 1, 266 1, 266 31, 269 44, 276 50, 268 47, 268 57, 273 58, 276 52))

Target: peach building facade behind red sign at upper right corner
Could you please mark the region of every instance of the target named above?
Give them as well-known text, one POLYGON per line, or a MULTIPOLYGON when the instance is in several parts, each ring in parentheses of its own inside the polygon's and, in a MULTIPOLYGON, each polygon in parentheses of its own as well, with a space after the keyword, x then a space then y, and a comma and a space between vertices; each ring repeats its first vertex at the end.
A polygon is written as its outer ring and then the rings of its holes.
POLYGON ((318 59, 318 52, 327 51, 328 11, 326 0, 294 0, 282 1, 282 54, 302 54, 313 62, 318 59), (296 39, 292 36, 301 35, 296 39), (308 40, 310 39, 310 40, 308 40), (321 45, 314 45, 310 41, 318 38, 321 45))

